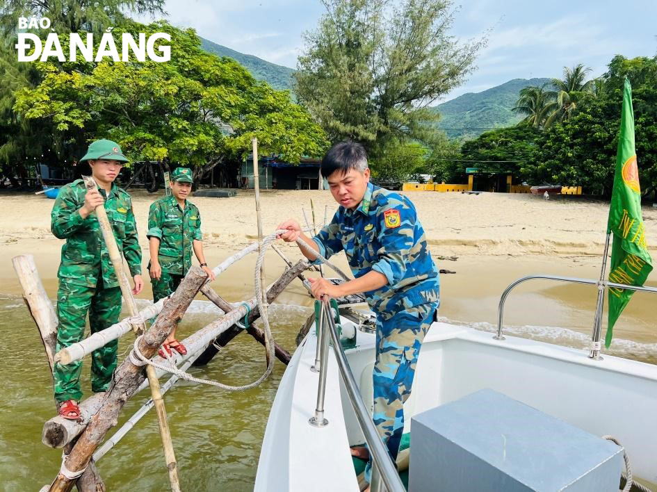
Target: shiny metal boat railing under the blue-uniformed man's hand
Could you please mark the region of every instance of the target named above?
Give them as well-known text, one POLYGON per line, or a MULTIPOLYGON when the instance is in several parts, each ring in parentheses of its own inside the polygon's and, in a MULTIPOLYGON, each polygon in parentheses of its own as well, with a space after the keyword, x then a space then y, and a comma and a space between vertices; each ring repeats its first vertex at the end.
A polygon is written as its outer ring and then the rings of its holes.
POLYGON ((317 404, 315 413, 309 420, 309 423, 316 427, 324 427, 329 424, 328 420, 324 418, 324 393, 326 390, 326 368, 328 363, 328 346, 330 338, 342 382, 344 383, 351 406, 356 413, 358 425, 365 436, 365 441, 372 457, 371 491, 405 492, 406 489, 399 478, 397 467, 393 463, 392 458, 388 454, 387 448, 376 430, 372 417, 367 411, 365 403, 360 395, 354 375, 349 368, 347 357, 342 345, 340 344, 340 337, 335 326, 332 308, 328 300, 323 300, 321 302, 317 330, 318 349, 315 356, 316 360, 314 368, 319 368, 319 383, 317 387, 317 404))

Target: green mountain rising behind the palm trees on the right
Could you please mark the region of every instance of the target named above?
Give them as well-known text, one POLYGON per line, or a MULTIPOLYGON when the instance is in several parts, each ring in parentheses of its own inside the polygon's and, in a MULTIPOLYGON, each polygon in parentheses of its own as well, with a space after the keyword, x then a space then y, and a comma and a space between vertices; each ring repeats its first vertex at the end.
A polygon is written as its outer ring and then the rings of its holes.
POLYGON ((441 118, 438 127, 450 138, 476 138, 485 129, 511 126, 522 120, 512 112, 519 92, 527 85, 541 86, 550 79, 513 79, 482 92, 468 92, 434 106, 441 118), (464 129, 464 130, 460 130, 464 129))

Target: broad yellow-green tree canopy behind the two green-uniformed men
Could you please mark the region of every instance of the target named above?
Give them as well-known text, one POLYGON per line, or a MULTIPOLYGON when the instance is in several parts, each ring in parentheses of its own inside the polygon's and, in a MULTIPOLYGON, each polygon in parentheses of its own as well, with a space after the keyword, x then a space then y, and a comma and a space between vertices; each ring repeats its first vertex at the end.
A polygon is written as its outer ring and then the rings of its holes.
POLYGON ((88 140, 105 137, 135 161, 167 159, 199 172, 248 153, 252 138, 263 153, 290 162, 323 150, 323 131, 287 92, 258 83, 230 58, 202 51, 193 30, 155 22, 127 31, 135 38, 169 33, 171 60, 38 63, 42 82, 19 90, 15 109, 51 121, 73 155, 88 140))

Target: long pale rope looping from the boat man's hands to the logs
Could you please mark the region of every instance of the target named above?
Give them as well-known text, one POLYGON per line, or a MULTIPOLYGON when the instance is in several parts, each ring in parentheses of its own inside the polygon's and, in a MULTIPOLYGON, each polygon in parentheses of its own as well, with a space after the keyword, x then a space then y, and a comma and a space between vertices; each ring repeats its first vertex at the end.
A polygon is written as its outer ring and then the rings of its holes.
MULTIPOLYGON (((255 284, 255 297, 256 297, 256 303, 258 306, 258 309, 260 311, 260 315, 263 321, 263 328, 265 332, 265 350, 268 354, 267 360, 267 368, 263 375, 256 379, 254 382, 245 384, 243 386, 231 386, 229 384, 223 384, 218 381, 213 381, 212 379, 203 379, 200 377, 193 377, 190 375, 188 372, 185 372, 184 370, 180 370, 175 366, 175 363, 172 358, 166 353, 165 351, 165 359, 169 362, 167 366, 157 363, 152 361, 151 359, 147 359, 139 350, 139 342, 143 338, 143 335, 140 335, 136 338, 134 344, 133 344, 133 349, 130 352, 130 361, 135 364, 135 366, 145 366, 148 364, 149 366, 153 366, 156 369, 163 370, 165 372, 170 372, 173 375, 176 375, 180 379, 184 379, 185 381, 190 381, 190 382, 195 382, 198 384, 207 384, 209 386, 215 386, 216 388, 222 388, 227 391, 246 391, 251 388, 255 388, 256 386, 259 386, 261 382, 263 382, 267 377, 271 374, 273 368, 274 368, 274 338, 271 333, 271 328, 269 325, 269 316, 266 311, 266 306, 268 304, 265 304, 263 302, 263 293, 262 293, 262 283, 261 283, 261 277, 260 277, 260 270, 262 263, 265 259, 265 252, 266 249, 273 243, 277 236, 279 236, 282 233, 286 233, 286 229, 279 229, 275 231, 273 234, 270 234, 269 236, 266 236, 266 238, 263 238, 262 243, 260 244, 260 252, 258 254, 258 259, 256 260, 256 265, 254 269, 254 284, 255 284)), ((343 280, 348 280, 348 277, 346 274, 344 274, 339 268, 337 268, 335 265, 327 261, 321 254, 318 254, 308 243, 306 243, 304 240, 301 238, 297 238, 296 240, 297 244, 302 248, 305 249, 307 252, 310 252, 311 254, 314 254, 317 256, 319 261, 321 263, 326 263, 336 274, 339 274, 339 276, 343 280)), ((248 303, 242 302, 241 303, 243 306, 246 307, 246 314, 244 315, 243 318, 243 324, 241 325, 239 322, 236 322, 235 324, 238 327, 241 328, 246 328, 248 327, 248 316, 251 312, 251 308, 248 303)), ((84 470, 83 470, 84 471, 84 470)))

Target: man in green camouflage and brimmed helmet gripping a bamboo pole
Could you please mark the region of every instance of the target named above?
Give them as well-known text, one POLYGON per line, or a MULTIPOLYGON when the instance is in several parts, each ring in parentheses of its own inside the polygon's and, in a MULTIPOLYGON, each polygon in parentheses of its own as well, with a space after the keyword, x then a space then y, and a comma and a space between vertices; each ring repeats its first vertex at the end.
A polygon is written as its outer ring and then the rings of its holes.
MULTIPOLYGON (((143 287, 141 249, 130 195, 113 183, 128 160, 115 142, 96 140, 80 159, 81 163, 85 161, 98 189, 87 191, 81 179, 63 186, 51 213, 52 232, 66 240, 57 273, 57 351, 81 341, 87 311, 92 333, 117 322, 121 311, 121 290, 96 218, 97 206, 105 206, 117 245, 133 276, 133 293, 138 294, 143 287)), ((113 341, 92 352, 92 391, 106 391, 116 368, 117 346, 113 341)), ((65 418, 79 418, 76 402, 82 397, 81 370, 81 361, 54 366, 55 400, 65 418)))

